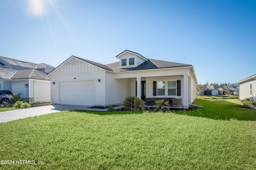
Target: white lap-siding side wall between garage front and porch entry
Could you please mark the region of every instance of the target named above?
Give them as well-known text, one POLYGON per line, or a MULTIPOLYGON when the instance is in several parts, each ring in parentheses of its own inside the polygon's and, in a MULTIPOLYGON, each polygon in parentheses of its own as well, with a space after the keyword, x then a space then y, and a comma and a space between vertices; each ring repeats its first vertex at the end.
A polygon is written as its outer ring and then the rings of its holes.
POLYGON ((115 79, 113 73, 106 72, 106 105, 121 104, 131 96, 131 78, 115 79))

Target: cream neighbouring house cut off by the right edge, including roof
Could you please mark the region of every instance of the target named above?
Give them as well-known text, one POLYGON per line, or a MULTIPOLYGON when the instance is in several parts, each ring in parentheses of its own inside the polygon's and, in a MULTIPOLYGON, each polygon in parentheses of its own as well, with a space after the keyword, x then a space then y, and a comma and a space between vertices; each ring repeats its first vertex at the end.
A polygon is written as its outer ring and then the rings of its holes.
POLYGON ((254 98, 256 101, 256 74, 237 82, 239 84, 239 99, 254 98))

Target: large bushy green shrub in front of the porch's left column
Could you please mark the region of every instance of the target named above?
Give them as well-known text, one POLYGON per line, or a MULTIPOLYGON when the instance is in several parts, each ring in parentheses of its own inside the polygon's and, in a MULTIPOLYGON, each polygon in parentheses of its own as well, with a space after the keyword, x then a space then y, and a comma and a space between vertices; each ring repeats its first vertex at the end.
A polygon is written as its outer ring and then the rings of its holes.
POLYGON ((125 98, 124 107, 129 110, 141 110, 144 107, 143 100, 135 96, 128 96, 125 98))

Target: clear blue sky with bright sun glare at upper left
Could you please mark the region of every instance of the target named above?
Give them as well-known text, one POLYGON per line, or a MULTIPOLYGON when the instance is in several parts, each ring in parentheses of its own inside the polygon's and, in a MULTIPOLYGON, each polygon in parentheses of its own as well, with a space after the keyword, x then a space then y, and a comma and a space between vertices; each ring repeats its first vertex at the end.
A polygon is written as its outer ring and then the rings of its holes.
POLYGON ((57 67, 126 49, 236 83, 256 74, 256 0, 0 0, 0 56, 57 67))

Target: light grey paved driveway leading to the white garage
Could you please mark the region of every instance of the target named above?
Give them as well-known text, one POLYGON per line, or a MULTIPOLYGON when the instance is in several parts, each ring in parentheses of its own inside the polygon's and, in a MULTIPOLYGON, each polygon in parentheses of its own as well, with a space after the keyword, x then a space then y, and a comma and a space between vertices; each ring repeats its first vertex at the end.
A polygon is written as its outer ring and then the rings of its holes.
POLYGON ((91 106, 48 105, 48 106, 30 107, 27 109, 1 111, 0 123, 14 121, 18 119, 24 119, 27 117, 34 117, 38 115, 45 115, 45 114, 64 111, 64 110, 86 110, 88 107, 91 107, 91 106))

